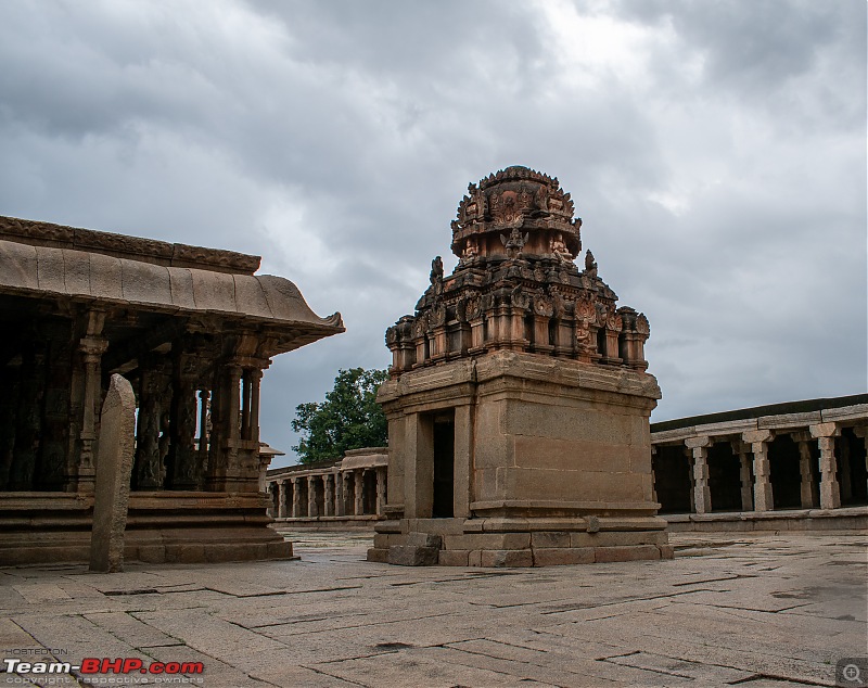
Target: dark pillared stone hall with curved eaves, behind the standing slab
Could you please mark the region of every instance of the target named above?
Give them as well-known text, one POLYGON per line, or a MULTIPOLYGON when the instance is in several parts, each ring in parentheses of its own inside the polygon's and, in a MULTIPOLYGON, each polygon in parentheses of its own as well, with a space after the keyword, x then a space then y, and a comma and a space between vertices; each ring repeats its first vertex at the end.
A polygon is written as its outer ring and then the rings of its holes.
POLYGON ((343 332, 257 256, 0 217, 0 563, 86 561, 113 373, 132 385, 130 560, 285 559, 260 492, 271 358, 343 332))

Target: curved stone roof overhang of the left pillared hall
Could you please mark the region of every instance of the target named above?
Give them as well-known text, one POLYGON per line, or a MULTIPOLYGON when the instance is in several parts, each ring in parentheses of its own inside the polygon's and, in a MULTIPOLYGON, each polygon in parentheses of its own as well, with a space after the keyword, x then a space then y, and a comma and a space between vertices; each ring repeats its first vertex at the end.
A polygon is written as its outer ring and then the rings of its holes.
POLYGON ((190 246, 180 252, 181 244, 156 242, 155 254, 169 246, 187 256, 184 262, 161 259, 139 251, 148 240, 129 238, 122 245, 117 234, 105 234, 106 239, 102 232, 74 230, 76 242, 59 241, 53 230, 60 226, 27 221, 27 235, 14 227, 16 231, 8 231, 0 222, 0 294, 4 296, 210 321, 216 328, 232 323, 268 333, 269 356, 344 331, 340 313, 319 317, 290 280, 245 269, 258 265, 256 256, 190 246), (82 250, 85 245, 92 247, 82 250))

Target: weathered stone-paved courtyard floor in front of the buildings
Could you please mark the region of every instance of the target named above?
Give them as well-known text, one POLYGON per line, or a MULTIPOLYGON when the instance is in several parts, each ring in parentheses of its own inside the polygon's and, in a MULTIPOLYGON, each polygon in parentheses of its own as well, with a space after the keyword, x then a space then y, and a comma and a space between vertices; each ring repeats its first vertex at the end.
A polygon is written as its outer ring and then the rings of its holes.
POLYGON ((184 684, 208 688, 783 688, 834 686, 840 659, 868 654, 864 535, 676 533, 671 561, 519 570, 368 563, 358 532, 293 538, 299 561, 0 569, 0 659, 202 662, 184 684))

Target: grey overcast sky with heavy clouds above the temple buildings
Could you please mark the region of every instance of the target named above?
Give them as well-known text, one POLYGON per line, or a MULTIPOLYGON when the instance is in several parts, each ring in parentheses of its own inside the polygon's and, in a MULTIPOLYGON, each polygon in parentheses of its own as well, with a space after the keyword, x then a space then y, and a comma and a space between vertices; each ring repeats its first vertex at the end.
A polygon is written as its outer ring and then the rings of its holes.
POLYGON ((266 372, 288 453, 516 164, 648 316, 652 420, 866 391, 864 0, 4 0, 0 161, 2 215, 261 255, 343 314, 266 372))

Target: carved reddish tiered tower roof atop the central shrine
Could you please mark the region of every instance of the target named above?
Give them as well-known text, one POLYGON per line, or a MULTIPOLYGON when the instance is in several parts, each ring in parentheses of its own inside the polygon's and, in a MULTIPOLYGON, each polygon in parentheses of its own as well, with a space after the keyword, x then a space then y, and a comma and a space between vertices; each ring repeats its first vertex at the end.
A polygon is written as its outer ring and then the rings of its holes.
POLYGON ((644 370, 648 319, 585 269, 582 219, 557 178, 512 166, 468 187, 452 220, 459 263, 445 277, 432 262, 431 285, 386 332, 393 377, 422 366, 498 349, 529 352, 644 370))

